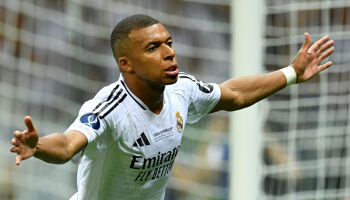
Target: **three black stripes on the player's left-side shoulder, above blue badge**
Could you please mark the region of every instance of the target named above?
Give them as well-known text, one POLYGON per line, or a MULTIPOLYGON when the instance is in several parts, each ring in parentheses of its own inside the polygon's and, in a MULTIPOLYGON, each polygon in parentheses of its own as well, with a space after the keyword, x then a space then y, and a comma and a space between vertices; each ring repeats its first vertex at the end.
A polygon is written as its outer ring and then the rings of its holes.
POLYGON ((128 96, 127 93, 122 87, 120 87, 119 84, 117 84, 109 93, 108 98, 102 100, 99 104, 97 104, 92 112, 100 119, 103 119, 109 113, 111 113, 120 103, 122 103, 125 100, 126 96, 128 96))

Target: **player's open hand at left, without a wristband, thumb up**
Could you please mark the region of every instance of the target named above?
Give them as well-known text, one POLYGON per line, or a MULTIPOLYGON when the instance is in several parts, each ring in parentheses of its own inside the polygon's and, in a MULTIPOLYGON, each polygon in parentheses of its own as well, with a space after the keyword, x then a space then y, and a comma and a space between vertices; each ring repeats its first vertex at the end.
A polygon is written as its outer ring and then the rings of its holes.
POLYGON ((36 145, 39 140, 39 134, 32 122, 32 118, 26 116, 24 118, 24 124, 27 129, 23 132, 15 131, 15 138, 11 140, 11 143, 14 145, 10 148, 10 151, 17 153, 16 165, 22 160, 30 158, 36 152, 36 145))

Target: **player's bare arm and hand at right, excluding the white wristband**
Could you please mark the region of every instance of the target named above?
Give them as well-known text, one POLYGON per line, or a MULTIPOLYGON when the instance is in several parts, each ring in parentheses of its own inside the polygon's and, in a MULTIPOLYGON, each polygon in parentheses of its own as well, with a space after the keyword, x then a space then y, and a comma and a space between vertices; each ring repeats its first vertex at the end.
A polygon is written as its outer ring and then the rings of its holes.
MULTIPOLYGON (((334 41, 329 40, 329 36, 324 36, 311 46, 310 35, 305 33, 305 42, 290 64, 296 73, 296 83, 307 81, 332 65, 330 61, 325 64, 320 63, 334 52, 333 44, 334 41)), ((228 80, 220 84, 221 98, 211 112, 233 111, 248 107, 283 89, 286 85, 287 78, 281 70, 228 80)))

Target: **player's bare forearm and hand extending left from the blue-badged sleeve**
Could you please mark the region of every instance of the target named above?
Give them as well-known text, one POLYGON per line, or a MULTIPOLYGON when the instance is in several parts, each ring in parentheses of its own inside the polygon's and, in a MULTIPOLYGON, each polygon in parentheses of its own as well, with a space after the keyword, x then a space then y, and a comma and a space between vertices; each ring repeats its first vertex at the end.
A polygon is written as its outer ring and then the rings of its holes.
POLYGON ((27 129, 23 132, 15 131, 15 138, 11 140, 14 146, 10 151, 17 153, 16 165, 32 156, 49 163, 65 163, 88 143, 86 137, 78 131, 53 133, 39 138, 31 117, 26 116, 24 123, 27 129))

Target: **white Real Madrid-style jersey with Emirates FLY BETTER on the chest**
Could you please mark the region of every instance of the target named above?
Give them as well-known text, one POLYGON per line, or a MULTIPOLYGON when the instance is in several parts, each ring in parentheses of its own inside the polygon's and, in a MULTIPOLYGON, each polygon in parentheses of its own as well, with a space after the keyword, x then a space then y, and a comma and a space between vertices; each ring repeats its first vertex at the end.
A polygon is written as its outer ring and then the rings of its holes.
POLYGON ((180 73, 165 87, 156 115, 120 76, 83 104, 67 130, 88 139, 78 155, 78 192, 71 199, 162 200, 185 123, 198 121, 219 99, 217 84, 180 73))

